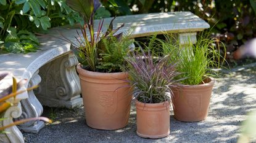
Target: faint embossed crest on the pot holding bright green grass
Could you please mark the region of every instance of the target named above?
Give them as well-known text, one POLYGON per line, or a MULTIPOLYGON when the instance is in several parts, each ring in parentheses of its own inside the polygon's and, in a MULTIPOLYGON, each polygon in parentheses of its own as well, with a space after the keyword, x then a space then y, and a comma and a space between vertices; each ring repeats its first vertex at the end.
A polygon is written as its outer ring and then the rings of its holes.
POLYGON ((191 107, 195 114, 199 114, 201 110, 201 95, 189 95, 186 97, 188 106, 191 107))

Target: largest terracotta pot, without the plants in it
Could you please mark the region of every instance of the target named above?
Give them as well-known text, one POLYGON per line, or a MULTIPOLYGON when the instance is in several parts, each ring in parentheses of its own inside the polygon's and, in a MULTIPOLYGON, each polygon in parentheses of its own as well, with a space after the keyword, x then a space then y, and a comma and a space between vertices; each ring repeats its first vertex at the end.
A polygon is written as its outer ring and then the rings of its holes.
POLYGON ((80 77, 86 123, 96 129, 119 129, 128 124, 131 91, 126 72, 101 73, 76 66, 80 77))

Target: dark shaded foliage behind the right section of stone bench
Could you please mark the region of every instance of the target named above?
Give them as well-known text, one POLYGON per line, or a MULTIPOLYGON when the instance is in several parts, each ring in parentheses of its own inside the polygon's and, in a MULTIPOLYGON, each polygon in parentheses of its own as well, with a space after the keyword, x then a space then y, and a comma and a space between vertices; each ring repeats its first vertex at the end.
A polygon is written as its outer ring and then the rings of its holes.
MULTIPOLYGON (((256 37, 255 0, 114 0, 118 6, 104 3, 112 15, 144 14, 152 12, 191 11, 207 21, 213 36, 225 43, 228 61, 233 52, 249 39, 256 37), (121 2, 122 1, 122 2, 121 2), (130 11, 126 10, 129 7, 130 11)), ((233 62, 235 64, 235 62, 233 62)))

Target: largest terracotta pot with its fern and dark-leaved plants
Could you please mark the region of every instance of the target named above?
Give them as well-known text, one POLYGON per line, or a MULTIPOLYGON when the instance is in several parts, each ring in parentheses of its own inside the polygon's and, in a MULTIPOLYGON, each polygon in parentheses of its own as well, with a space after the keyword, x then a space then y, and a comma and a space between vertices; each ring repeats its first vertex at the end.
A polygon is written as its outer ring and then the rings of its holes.
MULTIPOLYGON (((94 33, 94 12, 99 1, 67 0, 68 6, 85 19, 78 33, 75 55, 80 64, 76 70, 80 77, 86 123, 96 129, 119 129, 128 124, 130 117, 131 91, 127 82, 128 73, 122 72, 133 40, 122 33, 115 34, 113 20, 103 34, 104 20, 100 20, 94 33)), ((74 43, 73 43, 74 44, 74 43)))

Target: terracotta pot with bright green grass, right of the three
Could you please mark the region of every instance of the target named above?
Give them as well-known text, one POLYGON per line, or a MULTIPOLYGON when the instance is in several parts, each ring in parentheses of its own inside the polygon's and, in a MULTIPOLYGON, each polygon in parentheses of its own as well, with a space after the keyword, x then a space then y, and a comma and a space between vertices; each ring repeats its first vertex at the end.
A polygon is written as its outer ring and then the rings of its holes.
POLYGON ((159 40, 162 53, 172 53, 170 61, 178 61, 177 71, 181 73, 177 78, 183 79, 181 85, 173 89, 174 117, 183 122, 205 120, 215 83, 211 68, 221 65, 222 56, 216 50, 220 42, 204 33, 200 34, 196 44, 188 40, 186 45, 180 45, 174 36, 165 37, 167 41, 159 40))

